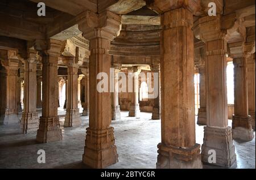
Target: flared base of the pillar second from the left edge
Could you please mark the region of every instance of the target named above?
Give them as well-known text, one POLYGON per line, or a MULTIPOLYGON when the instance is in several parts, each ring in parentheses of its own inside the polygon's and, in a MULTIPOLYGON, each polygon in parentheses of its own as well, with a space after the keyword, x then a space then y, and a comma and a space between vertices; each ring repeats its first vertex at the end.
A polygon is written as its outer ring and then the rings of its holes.
POLYGON ((23 134, 35 132, 39 127, 38 113, 22 113, 22 120, 20 122, 23 134))

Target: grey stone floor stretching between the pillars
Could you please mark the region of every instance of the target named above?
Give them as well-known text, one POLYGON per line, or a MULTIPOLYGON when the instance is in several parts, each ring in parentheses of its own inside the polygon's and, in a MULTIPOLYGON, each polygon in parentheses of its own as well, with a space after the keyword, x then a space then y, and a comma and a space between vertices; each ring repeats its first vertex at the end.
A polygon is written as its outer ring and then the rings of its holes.
MULTIPOLYGON (((0 126, 0 168, 85 168, 81 159, 88 117, 82 117, 80 127, 63 128, 63 109, 59 110, 59 115, 63 130, 60 142, 38 144, 36 133, 23 135, 18 128, 0 126), (37 162, 39 149, 46 151, 46 164, 37 162)), ((119 162, 109 168, 155 168, 160 120, 150 120, 151 113, 141 113, 141 118, 128 117, 128 112, 121 115, 122 120, 112 122, 119 162)), ((196 142, 203 143, 203 126, 196 125, 196 142)), ((232 168, 255 168, 255 139, 234 144, 237 164, 232 168)), ((204 168, 220 167, 204 165, 204 168)))

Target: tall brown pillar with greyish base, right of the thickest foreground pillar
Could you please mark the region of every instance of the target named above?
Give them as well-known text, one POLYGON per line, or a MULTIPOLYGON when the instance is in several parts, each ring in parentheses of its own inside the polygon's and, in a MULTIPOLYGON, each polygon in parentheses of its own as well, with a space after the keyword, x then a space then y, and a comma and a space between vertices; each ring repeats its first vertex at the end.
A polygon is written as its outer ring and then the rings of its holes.
POLYGON ((232 130, 228 126, 228 99, 226 90, 225 33, 221 16, 205 16, 194 25, 197 38, 205 42, 205 92, 207 126, 204 127, 202 161, 208 163, 210 151, 216 151, 216 164, 230 167, 236 162, 232 130), (210 27, 210 28, 209 28, 210 27))

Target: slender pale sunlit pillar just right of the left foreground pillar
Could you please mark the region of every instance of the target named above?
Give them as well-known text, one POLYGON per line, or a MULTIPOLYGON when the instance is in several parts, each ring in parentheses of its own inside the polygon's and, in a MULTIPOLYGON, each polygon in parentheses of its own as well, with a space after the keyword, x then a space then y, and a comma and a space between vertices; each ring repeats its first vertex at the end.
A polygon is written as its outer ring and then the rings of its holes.
POLYGON ((121 65, 114 64, 114 94, 113 94, 113 105, 112 105, 112 120, 117 121, 121 119, 121 112, 119 106, 119 76, 118 73, 121 69, 121 65))

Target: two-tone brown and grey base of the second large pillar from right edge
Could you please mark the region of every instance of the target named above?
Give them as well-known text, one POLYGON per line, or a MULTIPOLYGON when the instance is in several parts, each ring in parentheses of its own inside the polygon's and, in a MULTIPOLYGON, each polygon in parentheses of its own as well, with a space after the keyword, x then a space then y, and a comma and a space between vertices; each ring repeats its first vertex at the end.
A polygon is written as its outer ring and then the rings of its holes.
POLYGON ((251 117, 240 117, 233 115, 232 117, 232 135, 234 140, 250 142, 254 138, 253 129, 251 127, 251 117))

